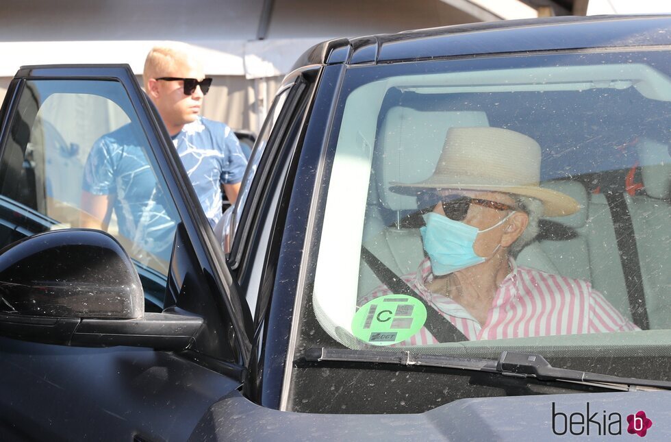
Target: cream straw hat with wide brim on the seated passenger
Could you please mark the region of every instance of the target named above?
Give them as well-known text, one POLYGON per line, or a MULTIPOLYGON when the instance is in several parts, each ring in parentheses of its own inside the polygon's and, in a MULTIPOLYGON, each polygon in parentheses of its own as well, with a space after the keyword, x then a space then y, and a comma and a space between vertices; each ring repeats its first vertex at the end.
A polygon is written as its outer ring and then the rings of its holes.
POLYGON ((532 138, 499 127, 451 127, 433 175, 422 182, 392 182, 391 191, 413 195, 422 188, 514 193, 542 201, 544 216, 580 209, 564 193, 542 188, 540 146, 532 138))

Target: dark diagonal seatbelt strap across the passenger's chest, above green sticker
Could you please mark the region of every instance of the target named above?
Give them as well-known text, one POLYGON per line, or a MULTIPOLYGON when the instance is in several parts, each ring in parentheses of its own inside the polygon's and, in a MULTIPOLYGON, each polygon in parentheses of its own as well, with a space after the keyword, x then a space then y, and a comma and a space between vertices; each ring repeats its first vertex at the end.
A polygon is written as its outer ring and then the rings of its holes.
POLYGON ((408 295, 418 299, 427 308, 427 322, 424 326, 429 330, 433 337, 438 342, 459 342, 468 341, 464 333, 461 333, 449 319, 442 316, 433 306, 429 305, 426 299, 421 297, 416 291, 412 289, 403 278, 400 278, 392 269, 387 267, 384 262, 379 260, 377 256, 366 249, 366 246, 361 247, 361 256, 364 262, 370 267, 372 273, 375 273, 377 279, 382 284, 385 284, 390 291, 397 295, 408 295))

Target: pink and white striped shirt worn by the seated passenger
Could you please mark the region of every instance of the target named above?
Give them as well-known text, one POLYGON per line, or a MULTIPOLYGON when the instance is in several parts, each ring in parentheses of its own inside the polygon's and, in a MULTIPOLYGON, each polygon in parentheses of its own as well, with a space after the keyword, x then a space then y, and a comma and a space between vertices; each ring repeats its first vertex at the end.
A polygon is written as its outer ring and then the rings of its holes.
MULTIPOLYGON (((589 282, 518 267, 513 259, 510 265, 512 271, 498 287, 484 324, 449 297, 427 289, 433 280, 428 258, 420 263, 417 273, 402 278, 470 341, 640 330, 589 282)), ((379 286, 360 305, 390 293, 386 286, 379 286)), ((422 327, 407 341, 396 345, 432 343, 438 341, 422 327)))

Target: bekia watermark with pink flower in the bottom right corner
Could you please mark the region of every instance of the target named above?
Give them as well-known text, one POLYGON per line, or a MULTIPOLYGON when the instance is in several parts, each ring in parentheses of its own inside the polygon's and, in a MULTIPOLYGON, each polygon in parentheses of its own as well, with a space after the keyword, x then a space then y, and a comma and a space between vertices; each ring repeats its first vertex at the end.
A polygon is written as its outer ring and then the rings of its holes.
MULTIPOLYGON (((593 406, 590 409, 590 402, 585 403, 584 411, 559 410, 555 402, 552 403, 552 432, 557 436, 616 436, 622 434, 622 420, 620 413, 594 411, 593 406)), ((653 421, 640 410, 627 415, 624 424, 629 434, 645 437, 653 421)))

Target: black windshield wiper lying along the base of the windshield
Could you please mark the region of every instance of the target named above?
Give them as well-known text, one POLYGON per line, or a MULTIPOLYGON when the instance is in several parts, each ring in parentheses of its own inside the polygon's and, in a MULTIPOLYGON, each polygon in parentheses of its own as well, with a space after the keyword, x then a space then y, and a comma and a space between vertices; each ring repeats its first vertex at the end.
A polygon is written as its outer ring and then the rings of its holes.
POLYGON ((459 358, 421 354, 407 350, 352 350, 313 347, 305 352, 305 360, 311 362, 339 361, 394 364, 408 366, 442 367, 498 373, 514 378, 535 378, 543 381, 566 381, 594 384, 620 391, 671 390, 671 382, 652 379, 621 378, 589 371, 553 367, 543 356, 534 353, 503 352, 496 359, 459 358))

